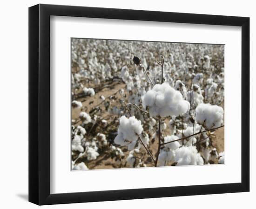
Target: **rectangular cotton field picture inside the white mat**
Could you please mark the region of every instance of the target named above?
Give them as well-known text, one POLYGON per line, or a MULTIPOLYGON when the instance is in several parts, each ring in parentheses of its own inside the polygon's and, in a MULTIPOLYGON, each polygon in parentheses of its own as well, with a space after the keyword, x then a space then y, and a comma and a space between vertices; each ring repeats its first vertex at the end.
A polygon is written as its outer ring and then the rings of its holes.
POLYGON ((225 163, 224 46, 72 39, 72 170, 225 163))

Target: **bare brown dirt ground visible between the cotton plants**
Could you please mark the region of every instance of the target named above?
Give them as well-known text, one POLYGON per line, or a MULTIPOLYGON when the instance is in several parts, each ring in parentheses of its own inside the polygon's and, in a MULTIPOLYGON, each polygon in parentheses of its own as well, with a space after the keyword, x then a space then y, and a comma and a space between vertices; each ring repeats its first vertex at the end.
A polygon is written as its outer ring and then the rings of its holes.
MULTIPOLYGON (((95 93, 94 97, 86 97, 86 98, 77 99, 78 101, 82 102, 83 111, 89 112, 95 105, 100 104, 101 103, 101 99, 100 99, 101 95, 103 95, 105 98, 108 98, 110 95, 113 95, 116 91, 118 91, 120 89, 125 89, 125 84, 123 84, 121 82, 114 82, 113 84, 111 85, 112 87, 103 88, 101 91, 95 93)), ((119 94, 116 94, 116 96, 121 98, 121 96, 119 94)), ((81 110, 72 110, 72 119, 77 119, 80 111, 81 110)), ((114 119, 114 116, 111 116, 106 111, 101 114, 101 117, 102 118, 111 117, 114 119)), ((168 123, 168 119, 167 119, 166 123, 168 123)), ((78 122, 75 125, 79 125, 79 124, 81 124, 81 122, 78 122)), ((168 128, 166 130, 164 130, 164 134, 165 135, 170 134, 168 128)), ((216 137, 212 140, 213 145, 216 147, 218 153, 224 151, 224 127, 216 130, 215 136, 216 137)), ((152 144, 152 140, 150 140, 149 148, 150 148, 151 152, 153 153, 153 155, 155 155, 155 153, 156 153, 157 146, 158 146, 157 141, 155 141, 155 143, 152 144)), ((124 152, 125 158, 126 158, 129 154, 129 151, 126 148, 121 148, 121 149, 124 152)), ((147 153, 143 147, 141 148, 141 152, 143 155, 147 155, 147 153)), ((148 167, 154 166, 154 164, 152 162, 150 162, 151 161, 150 157, 148 157, 147 160, 148 160, 147 161, 148 167)), ((111 157, 106 152, 100 153, 100 156, 97 157, 96 160, 86 162, 86 164, 89 169, 113 169, 113 168, 116 168, 119 166, 119 164, 116 163, 115 160, 111 159, 111 157)))

